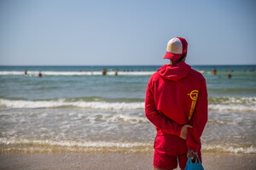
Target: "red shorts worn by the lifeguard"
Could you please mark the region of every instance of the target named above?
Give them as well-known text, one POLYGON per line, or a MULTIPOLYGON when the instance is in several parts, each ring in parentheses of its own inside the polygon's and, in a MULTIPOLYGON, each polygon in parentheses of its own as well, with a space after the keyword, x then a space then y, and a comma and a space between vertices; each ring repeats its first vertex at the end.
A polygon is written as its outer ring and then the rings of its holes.
POLYGON ((154 140, 154 167, 175 169, 177 162, 184 169, 187 162, 186 140, 172 134, 156 135, 154 140))

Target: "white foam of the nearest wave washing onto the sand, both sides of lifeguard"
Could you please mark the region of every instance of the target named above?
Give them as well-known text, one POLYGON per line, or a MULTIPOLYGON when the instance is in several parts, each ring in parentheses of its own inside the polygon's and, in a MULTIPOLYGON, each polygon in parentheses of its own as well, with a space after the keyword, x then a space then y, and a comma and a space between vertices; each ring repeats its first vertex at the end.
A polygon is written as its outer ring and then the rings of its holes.
MULTIPOLYGON (((109 149, 113 148, 115 151, 129 149, 129 150, 141 150, 148 151, 152 150, 152 142, 112 142, 112 141, 56 141, 56 140, 37 140, 37 139, 15 139, 15 138, 0 138, 0 144, 5 145, 16 145, 16 144, 28 144, 34 148, 39 146, 46 147, 43 150, 51 146, 61 146, 67 147, 69 150, 79 150, 81 148, 90 150, 98 149, 109 149), (73 148, 73 149, 72 149, 73 148)), ((50 149, 49 149, 50 150, 50 149)), ((241 147, 241 146, 231 146, 229 144, 216 144, 216 145, 202 145, 202 150, 206 151, 217 151, 217 152, 227 152, 227 153, 242 153, 242 154, 255 154, 256 148, 251 146, 241 147)))

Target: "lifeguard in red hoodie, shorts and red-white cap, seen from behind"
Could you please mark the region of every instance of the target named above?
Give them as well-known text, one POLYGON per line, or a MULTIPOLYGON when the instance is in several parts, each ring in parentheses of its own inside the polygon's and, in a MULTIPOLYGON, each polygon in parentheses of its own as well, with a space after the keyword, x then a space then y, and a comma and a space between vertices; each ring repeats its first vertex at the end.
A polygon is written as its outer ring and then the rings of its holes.
POLYGON ((188 42, 172 38, 166 48, 164 65, 150 77, 145 114, 154 124, 154 169, 185 168, 187 156, 201 159, 201 134, 207 124, 207 85, 200 72, 184 61, 188 42))

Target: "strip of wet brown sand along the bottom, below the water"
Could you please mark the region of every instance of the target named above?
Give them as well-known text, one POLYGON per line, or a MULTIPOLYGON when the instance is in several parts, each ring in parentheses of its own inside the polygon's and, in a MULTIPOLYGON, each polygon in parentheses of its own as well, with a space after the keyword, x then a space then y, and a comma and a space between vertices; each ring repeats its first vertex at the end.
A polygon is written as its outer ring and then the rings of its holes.
MULTIPOLYGON (((149 153, 35 153, 0 154, 0 169, 4 170, 148 170, 153 169, 149 153)), ((255 154, 204 153, 206 170, 256 169, 255 154)), ((179 168, 177 168, 179 169, 179 168)))

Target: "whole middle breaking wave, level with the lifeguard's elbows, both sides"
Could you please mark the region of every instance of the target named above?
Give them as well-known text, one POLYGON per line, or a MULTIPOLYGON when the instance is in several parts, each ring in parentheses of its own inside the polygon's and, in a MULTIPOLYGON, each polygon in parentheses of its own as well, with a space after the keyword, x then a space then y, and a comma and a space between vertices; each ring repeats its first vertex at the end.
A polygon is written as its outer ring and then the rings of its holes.
MULTIPOLYGON (((74 99, 0 99, 0 108, 58 108, 78 107, 100 110, 144 110, 143 99, 103 99, 98 97, 74 99), (135 101, 135 102, 133 102, 135 101)), ((209 99, 209 111, 256 112, 256 98, 217 97, 209 99)))

